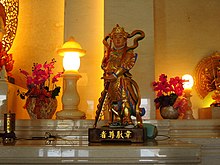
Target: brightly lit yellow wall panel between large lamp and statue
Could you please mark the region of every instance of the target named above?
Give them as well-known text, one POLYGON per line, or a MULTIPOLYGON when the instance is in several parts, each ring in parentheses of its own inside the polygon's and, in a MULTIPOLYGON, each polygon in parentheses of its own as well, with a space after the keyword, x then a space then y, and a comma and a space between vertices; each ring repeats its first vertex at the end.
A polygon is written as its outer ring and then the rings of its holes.
POLYGON ((94 118, 103 88, 100 67, 104 50, 103 16, 102 0, 66 0, 65 41, 73 36, 86 50, 86 55, 81 58, 79 72, 82 78, 78 81, 78 92, 79 109, 87 114, 87 119, 94 118))

